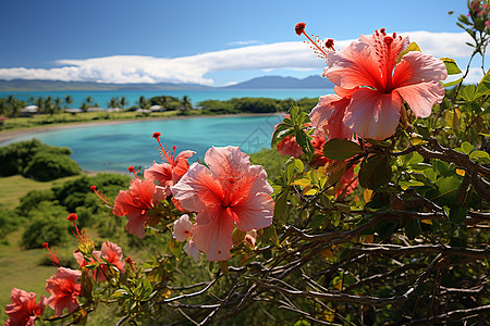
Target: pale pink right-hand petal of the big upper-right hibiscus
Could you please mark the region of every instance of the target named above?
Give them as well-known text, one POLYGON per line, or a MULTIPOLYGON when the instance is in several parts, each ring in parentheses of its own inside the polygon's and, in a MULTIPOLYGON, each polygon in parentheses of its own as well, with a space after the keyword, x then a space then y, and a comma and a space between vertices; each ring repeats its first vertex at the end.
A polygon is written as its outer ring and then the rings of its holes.
POLYGON ((408 103, 416 116, 427 117, 432 112, 432 106, 444 98, 445 90, 438 82, 419 83, 399 87, 395 89, 408 103))

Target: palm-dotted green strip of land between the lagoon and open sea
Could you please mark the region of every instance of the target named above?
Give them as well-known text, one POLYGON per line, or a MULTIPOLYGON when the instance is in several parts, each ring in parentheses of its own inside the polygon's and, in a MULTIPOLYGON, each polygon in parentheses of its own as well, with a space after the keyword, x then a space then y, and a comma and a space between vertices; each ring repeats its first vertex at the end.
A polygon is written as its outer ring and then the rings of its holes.
POLYGON ((73 102, 71 96, 60 98, 38 98, 32 102, 21 101, 12 96, 0 98, 0 116, 9 118, 0 125, 0 130, 27 129, 32 127, 60 125, 70 123, 107 122, 140 118, 167 118, 171 116, 200 116, 218 114, 241 113, 277 113, 286 112, 296 103, 307 112, 316 105, 317 99, 304 98, 297 101, 292 99, 279 100, 270 98, 234 98, 231 100, 206 100, 193 106, 189 98, 182 99, 171 96, 158 96, 152 98, 139 97, 137 104, 128 106, 125 97, 113 97, 107 103, 108 110, 91 111, 90 106, 98 106, 91 97, 87 97, 82 104, 82 112, 70 113, 66 108, 73 102), (35 103, 39 110, 37 113, 22 113, 22 109, 28 103, 35 103), (154 108, 154 110, 150 110, 154 108), (114 110, 115 109, 115 110, 114 110))

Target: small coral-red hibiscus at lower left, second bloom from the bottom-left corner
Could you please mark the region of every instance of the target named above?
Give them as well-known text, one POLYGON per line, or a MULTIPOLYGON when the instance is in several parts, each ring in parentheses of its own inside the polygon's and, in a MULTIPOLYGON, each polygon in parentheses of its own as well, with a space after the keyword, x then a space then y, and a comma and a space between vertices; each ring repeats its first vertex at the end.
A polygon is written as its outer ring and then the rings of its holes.
POLYGON ((76 280, 81 276, 81 271, 59 267, 57 275, 46 280, 46 290, 51 293, 48 305, 54 310, 54 315, 61 316, 65 308, 69 314, 78 308, 77 297, 82 293, 82 285, 76 280))

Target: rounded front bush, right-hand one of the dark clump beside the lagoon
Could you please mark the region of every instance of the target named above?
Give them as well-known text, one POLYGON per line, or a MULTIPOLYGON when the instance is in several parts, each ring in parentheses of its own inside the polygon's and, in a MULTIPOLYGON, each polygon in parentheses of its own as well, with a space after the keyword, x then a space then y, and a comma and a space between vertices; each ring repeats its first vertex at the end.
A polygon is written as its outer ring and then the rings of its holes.
POLYGON ((23 175, 38 181, 54 180, 65 176, 79 174, 78 163, 68 155, 38 152, 24 170, 23 175))

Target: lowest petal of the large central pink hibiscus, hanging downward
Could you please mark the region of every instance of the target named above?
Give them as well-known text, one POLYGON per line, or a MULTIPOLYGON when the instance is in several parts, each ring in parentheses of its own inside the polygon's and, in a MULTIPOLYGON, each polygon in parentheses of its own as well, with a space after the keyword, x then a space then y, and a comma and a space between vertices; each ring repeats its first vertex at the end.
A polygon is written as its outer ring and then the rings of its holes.
POLYGON ((231 258, 234 223, 230 213, 230 209, 211 205, 197 214, 193 239, 196 247, 206 252, 209 261, 226 261, 231 258))

